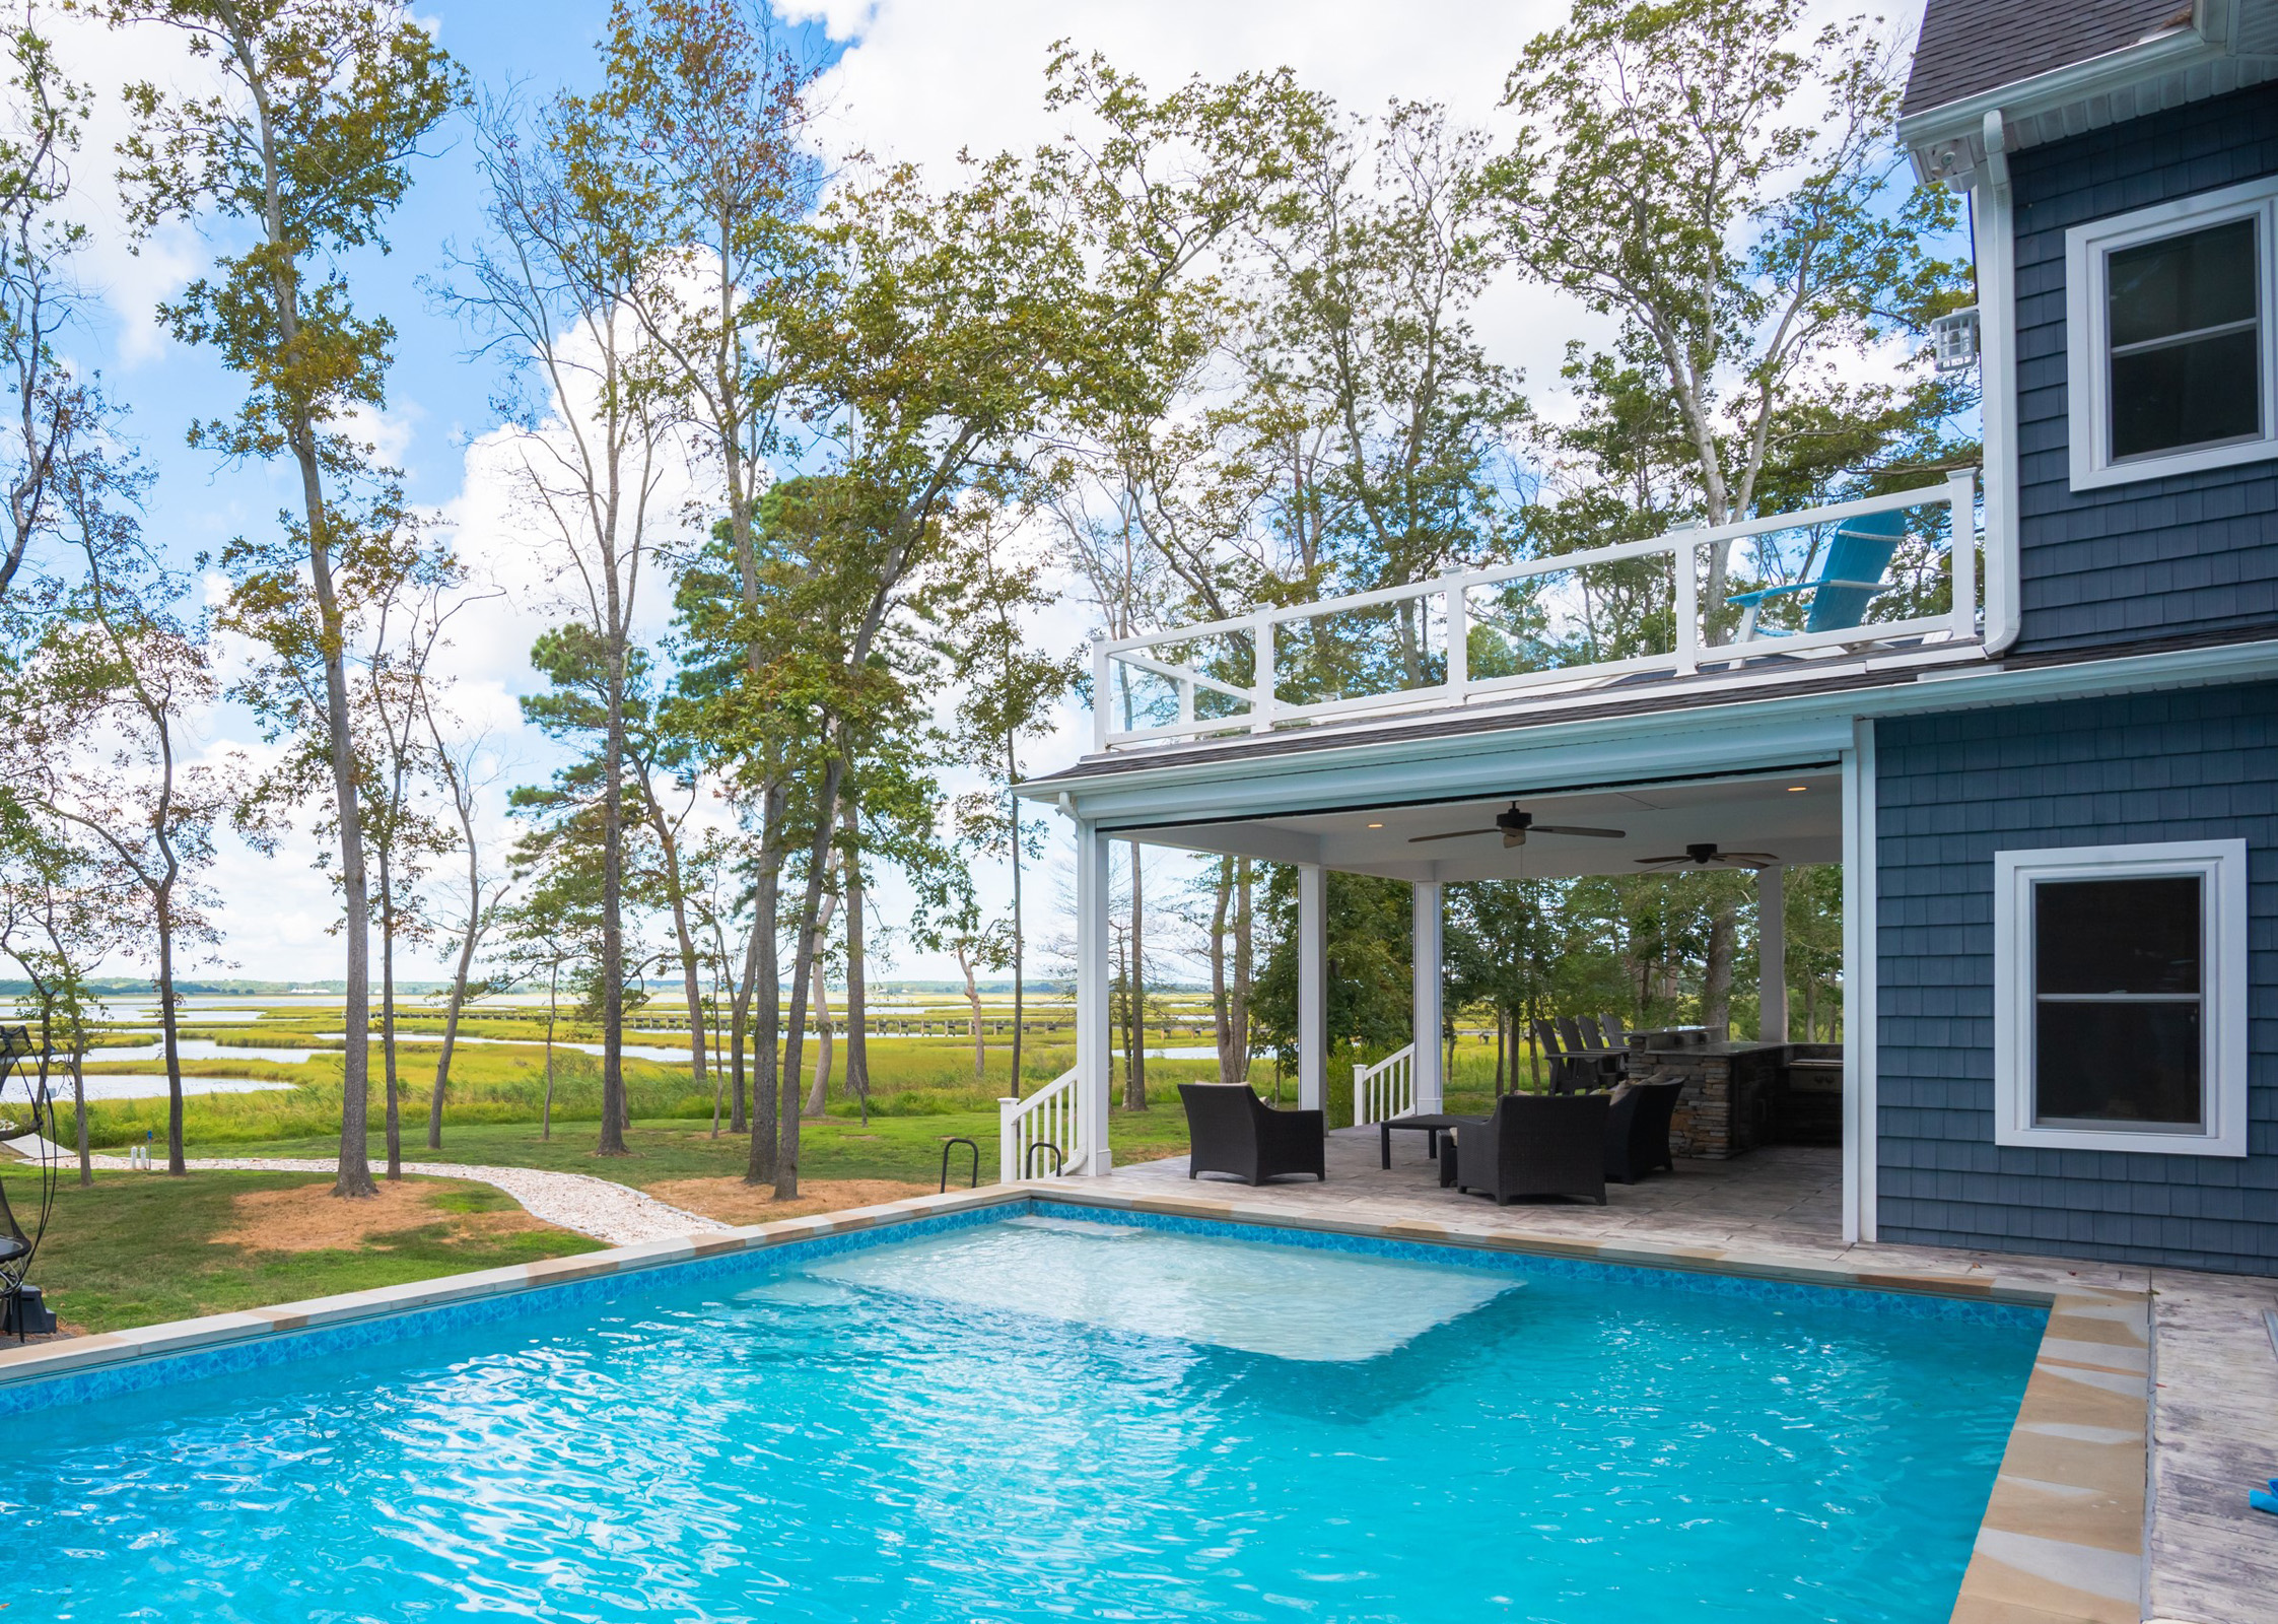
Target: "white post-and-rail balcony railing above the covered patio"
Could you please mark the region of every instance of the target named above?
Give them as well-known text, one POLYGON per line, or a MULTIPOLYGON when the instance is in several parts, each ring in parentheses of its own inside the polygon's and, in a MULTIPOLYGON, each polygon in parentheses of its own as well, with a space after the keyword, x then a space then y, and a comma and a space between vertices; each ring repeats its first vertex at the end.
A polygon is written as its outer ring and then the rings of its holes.
MULTIPOLYGON (((1376 592, 1353 592, 1349 597, 1294 604, 1289 608, 1262 608, 1235 620, 1214 620, 1196 626, 1146 633, 1139 638, 1103 638, 1091 645, 1091 720, 1093 747, 1114 749, 1150 740, 1205 738, 1212 733, 1267 733, 1276 727, 1321 722, 1353 713, 1394 708, 1437 708, 1469 704, 1531 688, 1595 686, 1617 676, 1667 674, 1693 676, 1704 667, 1740 670, 1750 661, 1765 656, 1857 651, 1873 645, 1966 645, 1977 640, 1977 471, 1957 469, 1936 485, 1916 485, 1886 497, 1861 501, 1838 501, 1802 512, 1779 512, 1738 524, 1699 526, 1672 531, 1647 542, 1622 542, 1617 547, 1595 547, 1590 551, 1535 558, 1494 569, 1465 569, 1442 574, 1431 581, 1412 581, 1376 592), (1738 613, 1724 604, 1702 604, 1704 563, 1711 556, 1731 558, 1738 542, 1756 542, 1791 531, 1809 531, 1818 538, 1822 526, 1870 512, 1898 512, 1909 508, 1943 508, 1945 556, 1952 594, 1948 608, 1934 615, 1907 620, 1866 622, 1834 631, 1768 635, 1754 642, 1715 640, 1713 631, 1727 631, 1738 622, 1738 613), (1529 629, 1515 629, 1497 606, 1474 606, 1474 594, 1513 588, 1542 576, 1579 576, 1579 572, 1601 565, 1624 565, 1636 560, 1667 560, 1672 574, 1670 599, 1674 610, 1672 647, 1658 654, 1631 654, 1622 658, 1544 663, 1540 670, 1517 670, 1506 674, 1472 674, 1472 631, 1485 626, 1510 642, 1533 640, 1529 629), (1408 665, 1437 674, 1437 681, 1410 681, 1369 695, 1339 695, 1335 699, 1292 702, 1283 699, 1276 681, 1276 640, 1292 626, 1355 610, 1378 610, 1401 624, 1401 640, 1408 649, 1408 665), (1216 656, 1207 654, 1216 645, 1216 656), (1198 649, 1205 649, 1198 654, 1198 649), (1214 663, 1219 674, 1196 665, 1214 663), (1251 679, 1239 681, 1242 670, 1251 679), (1121 702, 1116 679, 1121 676, 1121 702), (1139 704, 1137 692, 1150 695, 1139 704), (1203 715, 1203 704, 1212 715, 1203 715), (1173 711, 1175 706, 1175 711, 1173 711), (1123 724, 1116 724, 1116 717, 1123 724)), ((1549 585, 1549 583, 1544 583, 1549 585)), ((1524 588, 1522 588, 1524 590, 1524 588)), ((1592 594, 1588 581, 1570 583, 1560 597, 1551 590, 1538 601, 1549 613, 1572 615, 1592 594)), ((1588 638, 1585 638, 1588 642, 1588 638)))

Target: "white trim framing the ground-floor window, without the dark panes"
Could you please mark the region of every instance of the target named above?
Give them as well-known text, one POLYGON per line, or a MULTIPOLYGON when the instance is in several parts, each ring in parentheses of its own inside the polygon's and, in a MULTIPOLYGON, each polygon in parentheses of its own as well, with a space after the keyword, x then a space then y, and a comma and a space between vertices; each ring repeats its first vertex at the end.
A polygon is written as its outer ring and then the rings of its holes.
POLYGON ((1993 854, 1993 1143, 2141 1155, 2246 1155, 2246 840, 2073 845, 1993 854), (2198 875, 2205 1132, 2052 1127, 2032 1121, 2032 886, 2039 879, 2198 875))

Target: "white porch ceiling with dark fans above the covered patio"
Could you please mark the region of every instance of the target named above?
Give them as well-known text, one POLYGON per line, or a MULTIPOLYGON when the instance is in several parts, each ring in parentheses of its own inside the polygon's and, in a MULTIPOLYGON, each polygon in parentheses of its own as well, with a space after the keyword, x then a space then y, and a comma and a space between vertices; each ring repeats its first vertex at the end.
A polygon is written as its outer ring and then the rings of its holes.
POLYGON ((1836 863, 1843 856, 1843 779, 1818 768, 1708 784, 1640 784, 1517 795, 1535 822, 1620 829, 1620 840, 1531 834, 1503 847, 1501 836, 1415 845, 1412 836, 1488 829, 1513 797, 1392 804, 1333 813, 1292 813, 1230 822, 1116 827, 1125 840, 1189 852, 1260 856, 1273 863, 1324 863, 1387 879, 1567 879, 1574 875, 1647 872, 1642 856, 1667 856, 1713 840, 1727 852, 1770 852, 1781 863, 1836 863))

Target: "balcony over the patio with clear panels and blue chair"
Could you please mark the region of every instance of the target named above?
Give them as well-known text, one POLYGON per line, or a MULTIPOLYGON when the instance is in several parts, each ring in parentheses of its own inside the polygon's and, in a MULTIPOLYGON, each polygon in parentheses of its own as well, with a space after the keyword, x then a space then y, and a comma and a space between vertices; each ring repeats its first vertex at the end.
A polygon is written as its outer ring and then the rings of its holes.
POLYGON ((1977 474, 1961 469, 1863 501, 1098 640, 1093 749, 1973 658, 1975 503, 1977 474), (1836 551, 1838 531, 1852 549, 1859 531, 1886 538, 1879 576, 1825 574, 1857 556, 1836 551), (1711 601, 1718 563, 1724 592, 1711 601), (1857 613, 1822 613, 1813 626, 1822 579, 1857 613), (1754 610, 1731 601, 1765 588, 1775 592, 1754 610))

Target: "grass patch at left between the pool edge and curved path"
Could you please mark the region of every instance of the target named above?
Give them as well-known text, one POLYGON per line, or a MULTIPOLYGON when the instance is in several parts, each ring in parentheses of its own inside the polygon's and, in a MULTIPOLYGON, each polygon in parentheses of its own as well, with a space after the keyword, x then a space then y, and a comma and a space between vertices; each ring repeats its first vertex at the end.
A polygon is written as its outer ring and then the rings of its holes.
MULTIPOLYGON (((30 1175, 5 1171, 0 1178, 7 1180, 16 1209, 27 1209, 30 1175)), ((460 1223, 460 1214, 513 1212, 515 1203, 487 1184, 449 1180, 431 1187, 431 1221, 364 1235, 353 1248, 257 1250, 214 1239, 237 1228, 237 1196, 308 1184, 330 1184, 330 1178, 96 1173, 96 1182, 82 1189, 66 1175, 32 1280, 64 1323, 100 1332, 526 1264, 601 1246, 567 1230, 487 1232, 460 1223)))

